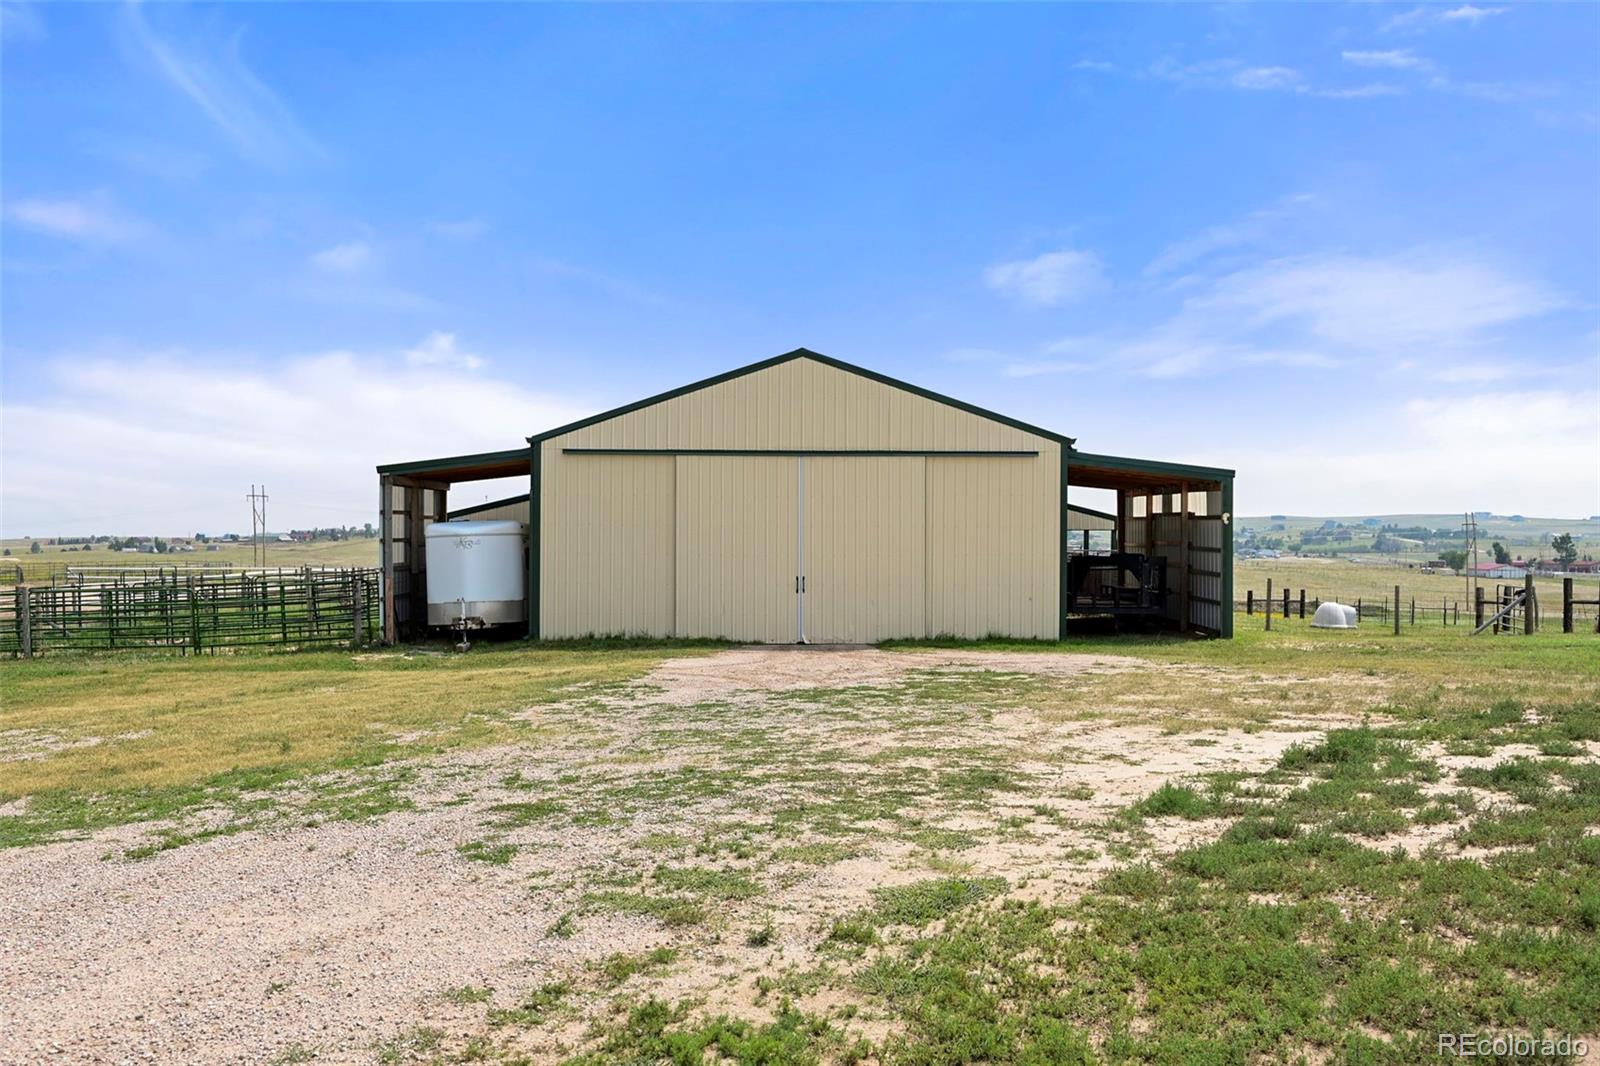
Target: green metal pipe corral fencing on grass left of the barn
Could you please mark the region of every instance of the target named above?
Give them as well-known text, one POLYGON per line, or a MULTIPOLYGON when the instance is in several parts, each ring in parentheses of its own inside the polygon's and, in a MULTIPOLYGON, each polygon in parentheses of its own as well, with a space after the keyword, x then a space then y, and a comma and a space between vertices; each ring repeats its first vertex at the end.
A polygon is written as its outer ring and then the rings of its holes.
POLYGON ((120 575, 0 589, 0 655, 358 647, 379 637, 378 570, 120 575))

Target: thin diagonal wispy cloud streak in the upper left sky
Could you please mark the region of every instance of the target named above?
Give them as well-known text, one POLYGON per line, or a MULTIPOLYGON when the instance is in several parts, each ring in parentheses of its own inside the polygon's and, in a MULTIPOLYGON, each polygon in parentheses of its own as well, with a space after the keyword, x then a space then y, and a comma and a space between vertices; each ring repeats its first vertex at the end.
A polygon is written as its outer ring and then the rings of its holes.
MULTIPOLYGON (((163 14, 178 8, 162 6, 163 14)), ((270 165, 317 157, 322 149, 301 128, 290 109, 251 70, 242 54, 245 30, 224 30, 214 19, 190 40, 157 34, 146 21, 146 6, 126 8, 128 37, 139 53, 246 158, 270 165)))

